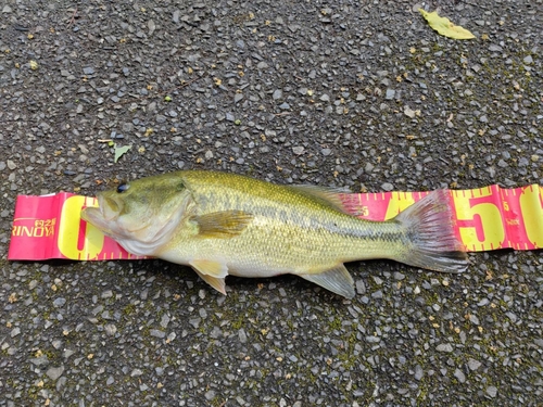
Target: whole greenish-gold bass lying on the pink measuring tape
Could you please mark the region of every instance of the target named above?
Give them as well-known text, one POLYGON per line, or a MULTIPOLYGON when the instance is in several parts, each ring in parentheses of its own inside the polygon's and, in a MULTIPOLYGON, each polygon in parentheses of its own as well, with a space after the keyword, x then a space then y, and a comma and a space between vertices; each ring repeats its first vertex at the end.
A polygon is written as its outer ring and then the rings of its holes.
POLYGON ((346 298, 344 263, 386 258, 463 272, 465 246, 446 190, 386 221, 349 212, 337 189, 276 185, 212 170, 180 170, 122 182, 97 194, 81 218, 129 253, 187 265, 226 295, 229 275, 295 275, 346 298))

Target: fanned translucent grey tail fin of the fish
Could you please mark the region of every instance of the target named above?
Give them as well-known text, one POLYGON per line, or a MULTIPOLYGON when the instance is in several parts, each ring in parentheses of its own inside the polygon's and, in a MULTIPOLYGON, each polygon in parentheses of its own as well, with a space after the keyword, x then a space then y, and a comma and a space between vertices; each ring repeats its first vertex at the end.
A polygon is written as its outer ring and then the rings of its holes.
POLYGON ((449 191, 433 191, 401 212, 407 238, 406 251, 395 258, 409 266, 443 272, 463 272, 469 260, 466 249, 456 238, 449 191))

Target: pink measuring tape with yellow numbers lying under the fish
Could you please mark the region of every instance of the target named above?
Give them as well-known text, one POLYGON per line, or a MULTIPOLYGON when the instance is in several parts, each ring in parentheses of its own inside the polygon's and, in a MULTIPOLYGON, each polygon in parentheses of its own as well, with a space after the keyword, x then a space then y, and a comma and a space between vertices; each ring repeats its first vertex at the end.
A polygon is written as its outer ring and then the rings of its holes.
MULTIPOLYGON (((350 213, 364 219, 387 220, 428 192, 341 194, 350 213)), ((468 252, 543 247, 543 188, 538 185, 503 189, 490 186, 450 191, 454 228, 468 252)), ((114 240, 81 220, 94 198, 61 192, 18 195, 8 253, 10 260, 113 260, 144 258, 126 252, 114 240)))

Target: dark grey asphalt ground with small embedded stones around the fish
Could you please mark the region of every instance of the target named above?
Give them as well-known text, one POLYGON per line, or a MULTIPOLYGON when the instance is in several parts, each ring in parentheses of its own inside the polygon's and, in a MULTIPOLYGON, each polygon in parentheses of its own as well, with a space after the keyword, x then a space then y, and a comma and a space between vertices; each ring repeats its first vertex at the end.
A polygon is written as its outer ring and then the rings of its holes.
POLYGON ((302 279, 9 263, 16 194, 179 168, 354 192, 543 185, 543 2, 0 5, 0 406, 541 406, 542 252, 302 279), (420 3, 422 4, 422 3, 420 3), (419 4, 419 5, 420 5, 419 4), (105 141, 104 141, 105 140, 105 141), (117 163, 114 149, 131 145, 117 163))

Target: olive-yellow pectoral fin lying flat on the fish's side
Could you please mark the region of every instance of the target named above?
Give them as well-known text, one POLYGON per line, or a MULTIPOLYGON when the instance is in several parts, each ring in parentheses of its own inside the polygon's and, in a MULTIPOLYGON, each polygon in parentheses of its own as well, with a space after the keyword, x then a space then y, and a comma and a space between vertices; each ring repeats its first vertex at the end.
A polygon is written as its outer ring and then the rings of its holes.
POLYGON ((253 220, 253 215, 243 211, 222 211, 194 216, 198 236, 201 238, 232 238, 240 234, 253 220))

